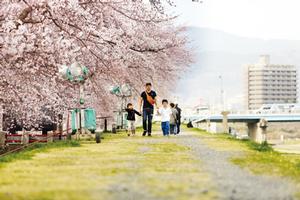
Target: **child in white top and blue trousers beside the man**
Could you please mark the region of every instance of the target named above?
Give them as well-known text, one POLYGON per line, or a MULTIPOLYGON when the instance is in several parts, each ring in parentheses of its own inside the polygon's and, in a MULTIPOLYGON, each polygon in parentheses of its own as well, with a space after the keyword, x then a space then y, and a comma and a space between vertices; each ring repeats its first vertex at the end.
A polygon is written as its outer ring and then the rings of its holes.
POLYGON ((170 114, 171 109, 168 105, 168 100, 162 100, 162 107, 158 109, 158 113, 161 115, 161 129, 164 136, 169 136, 170 134, 170 114))

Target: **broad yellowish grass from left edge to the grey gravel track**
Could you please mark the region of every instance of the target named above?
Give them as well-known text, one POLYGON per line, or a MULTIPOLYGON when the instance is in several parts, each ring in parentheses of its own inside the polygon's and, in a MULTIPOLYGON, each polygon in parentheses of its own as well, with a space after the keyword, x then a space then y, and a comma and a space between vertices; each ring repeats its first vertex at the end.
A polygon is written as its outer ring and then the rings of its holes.
POLYGON ((129 191, 156 199, 217 197, 200 161, 176 138, 102 136, 100 144, 53 143, 7 157, 0 167, 0 199, 130 199, 129 191))

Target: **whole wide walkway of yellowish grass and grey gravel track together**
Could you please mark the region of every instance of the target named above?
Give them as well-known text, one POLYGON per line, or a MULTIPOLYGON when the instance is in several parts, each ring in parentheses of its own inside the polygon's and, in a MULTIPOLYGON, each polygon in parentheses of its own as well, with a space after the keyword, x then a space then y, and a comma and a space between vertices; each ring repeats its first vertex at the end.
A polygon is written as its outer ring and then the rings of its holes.
POLYGON ((291 183, 253 175, 194 132, 107 136, 0 166, 0 199, 293 199, 291 183))

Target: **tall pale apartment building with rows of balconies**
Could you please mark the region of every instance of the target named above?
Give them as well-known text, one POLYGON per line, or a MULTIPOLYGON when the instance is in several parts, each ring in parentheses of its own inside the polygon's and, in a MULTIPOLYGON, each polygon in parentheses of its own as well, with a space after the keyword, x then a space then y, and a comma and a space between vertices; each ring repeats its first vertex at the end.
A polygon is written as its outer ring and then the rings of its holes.
POLYGON ((249 110, 263 104, 297 103, 298 72, 295 66, 270 64, 270 56, 261 55, 257 64, 246 68, 249 110))

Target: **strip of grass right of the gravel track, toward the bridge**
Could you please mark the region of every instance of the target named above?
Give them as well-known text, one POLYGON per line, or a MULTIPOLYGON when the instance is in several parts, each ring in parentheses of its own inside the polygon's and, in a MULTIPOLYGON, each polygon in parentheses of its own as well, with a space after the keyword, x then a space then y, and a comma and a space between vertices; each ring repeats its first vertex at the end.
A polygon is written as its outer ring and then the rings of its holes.
POLYGON ((192 131, 215 150, 240 152, 231 161, 242 168, 256 174, 288 177, 300 183, 300 155, 279 153, 268 143, 238 140, 228 134, 211 134, 197 129, 192 131))

